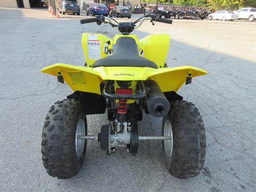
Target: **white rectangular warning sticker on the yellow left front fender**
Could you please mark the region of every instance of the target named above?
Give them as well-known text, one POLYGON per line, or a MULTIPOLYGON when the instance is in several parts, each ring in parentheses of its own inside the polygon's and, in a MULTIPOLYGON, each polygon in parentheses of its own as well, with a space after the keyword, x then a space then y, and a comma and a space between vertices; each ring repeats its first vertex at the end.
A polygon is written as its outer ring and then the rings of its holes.
POLYGON ((88 59, 100 59, 100 40, 87 41, 88 59))

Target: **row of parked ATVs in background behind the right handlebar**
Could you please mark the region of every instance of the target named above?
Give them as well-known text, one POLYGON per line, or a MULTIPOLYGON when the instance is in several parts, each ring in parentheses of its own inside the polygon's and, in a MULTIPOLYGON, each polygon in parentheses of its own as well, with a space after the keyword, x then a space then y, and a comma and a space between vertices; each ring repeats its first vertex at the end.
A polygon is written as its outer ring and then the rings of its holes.
POLYGON ((158 7, 155 10, 157 17, 165 19, 205 19, 211 11, 197 6, 177 6, 169 5, 165 7, 158 7))

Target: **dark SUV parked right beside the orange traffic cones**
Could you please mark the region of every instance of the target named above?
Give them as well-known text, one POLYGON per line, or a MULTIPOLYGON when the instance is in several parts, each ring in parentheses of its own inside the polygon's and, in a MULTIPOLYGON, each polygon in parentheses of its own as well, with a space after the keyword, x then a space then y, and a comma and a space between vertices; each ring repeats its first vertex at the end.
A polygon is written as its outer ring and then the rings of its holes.
POLYGON ((63 15, 65 13, 80 15, 80 7, 77 0, 61 0, 59 5, 59 12, 63 15))

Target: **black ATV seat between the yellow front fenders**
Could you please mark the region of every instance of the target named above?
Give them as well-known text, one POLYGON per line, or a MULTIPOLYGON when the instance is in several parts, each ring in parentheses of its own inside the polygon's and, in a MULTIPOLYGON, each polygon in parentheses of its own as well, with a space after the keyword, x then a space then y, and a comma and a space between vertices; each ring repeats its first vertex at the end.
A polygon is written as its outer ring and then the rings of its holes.
POLYGON ((131 37, 119 37, 114 45, 113 55, 95 61, 95 67, 150 67, 157 69, 156 63, 140 57, 137 44, 131 37))

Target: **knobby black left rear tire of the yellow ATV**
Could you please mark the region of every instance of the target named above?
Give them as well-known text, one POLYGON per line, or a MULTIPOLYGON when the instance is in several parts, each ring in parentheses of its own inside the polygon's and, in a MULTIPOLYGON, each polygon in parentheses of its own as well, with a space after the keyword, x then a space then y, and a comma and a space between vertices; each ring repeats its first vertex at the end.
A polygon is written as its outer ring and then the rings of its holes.
POLYGON ((42 134, 42 159, 46 172, 58 179, 68 179, 81 169, 86 152, 86 140, 81 156, 77 155, 75 135, 79 119, 87 122, 79 101, 64 99, 55 102, 45 118, 42 134))

